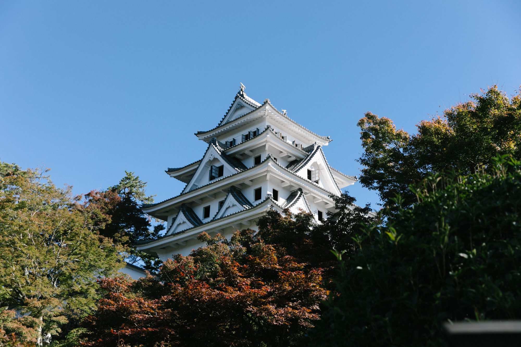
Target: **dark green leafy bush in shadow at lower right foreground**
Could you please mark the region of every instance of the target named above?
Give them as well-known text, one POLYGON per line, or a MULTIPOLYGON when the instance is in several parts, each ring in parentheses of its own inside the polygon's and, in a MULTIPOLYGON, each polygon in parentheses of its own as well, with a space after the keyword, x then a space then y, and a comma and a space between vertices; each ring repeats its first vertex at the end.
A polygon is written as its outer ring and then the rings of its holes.
POLYGON ((521 162, 426 178, 340 258, 313 346, 443 345, 441 324, 521 318, 521 162))

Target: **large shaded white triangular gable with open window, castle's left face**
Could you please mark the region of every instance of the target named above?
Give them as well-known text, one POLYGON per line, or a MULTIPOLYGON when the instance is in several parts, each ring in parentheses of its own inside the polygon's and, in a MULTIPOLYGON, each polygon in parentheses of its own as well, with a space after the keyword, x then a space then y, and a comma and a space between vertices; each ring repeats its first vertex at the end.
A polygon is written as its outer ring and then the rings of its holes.
POLYGON ((242 164, 239 160, 235 158, 230 158, 226 154, 224 154, 224 150, 226 149, 226 145, 217 141, 217 139, 213 138, 212 141, 208 144, 208 148, 201 159, 201 163, 197 170, 195 171, 192 179, 188 182, 187 186, 184 188, 183 193, 194 190, 197 187, 201 187, 201 185, 207 184, 209 182, 209 169, 210 165, 224 165, 226 168, 225 174, 222 177, 226 177, 231 175, 232 173, 241 172, 246 170, 247 167, 242 164), (213 163, 213 164, 212 164, 213 163))

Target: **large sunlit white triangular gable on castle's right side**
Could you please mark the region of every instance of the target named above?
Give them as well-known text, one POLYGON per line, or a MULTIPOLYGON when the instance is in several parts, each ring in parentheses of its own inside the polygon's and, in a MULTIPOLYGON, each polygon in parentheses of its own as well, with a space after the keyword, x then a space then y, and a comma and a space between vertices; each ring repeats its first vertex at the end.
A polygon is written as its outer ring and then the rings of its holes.
MULTIPOLYGON (((340 195, 342 191, 334 180, 326 156, 324 155, 324 151, 322 151, 322 147, 316 143, 314 145, 316 146, 314 150, 306 158, 299 160, 299 163, 297 163, 298 165, 293 166, 292 171, 300 177, 307 179, 307 169, 311 169, 312 171, 319 170, 320 180, 318 185, 329 192, 340 195)), ((292 163, 290 163, 290 165, 291 164, 292 163)))

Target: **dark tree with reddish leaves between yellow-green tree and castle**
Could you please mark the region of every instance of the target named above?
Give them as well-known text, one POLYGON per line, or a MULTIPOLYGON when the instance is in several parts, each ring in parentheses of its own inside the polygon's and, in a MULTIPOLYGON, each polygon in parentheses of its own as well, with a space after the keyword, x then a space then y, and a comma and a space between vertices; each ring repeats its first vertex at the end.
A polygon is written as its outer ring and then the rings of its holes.
POLYGON ((152 195, 145 193, 146 182, 133 172, 125 171, 125 174, 114 187, 102 192, 91 191, 85 194, 85 199, 110 216, 110 221, 100 228, 100 234, 125 246, 129 263, 142 261, 146 270, 156 272, 159 259, 137 251, 133 244, 156 239, 165 227, 163 224, 153 225, 152 218, 141 209, 141 204, 154 201, 152 195))

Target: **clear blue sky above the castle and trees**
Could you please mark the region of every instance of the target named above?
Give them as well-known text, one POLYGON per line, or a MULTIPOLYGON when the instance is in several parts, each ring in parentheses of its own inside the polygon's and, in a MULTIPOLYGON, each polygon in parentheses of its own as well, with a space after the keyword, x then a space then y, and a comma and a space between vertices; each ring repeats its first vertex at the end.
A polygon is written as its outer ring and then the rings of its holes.
MULTIPOLYGON (((358 175, 366 111, 414 132, 469 93, 521 84, 520 1, 2 1, 0 159, 75 193, 124 170, 156 201, 184 184, 239 83, 333 141, 358 175)), ((374 192, 355 187, 358 203, 374 192)))

